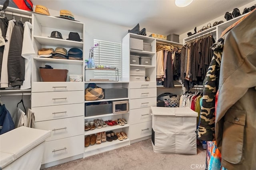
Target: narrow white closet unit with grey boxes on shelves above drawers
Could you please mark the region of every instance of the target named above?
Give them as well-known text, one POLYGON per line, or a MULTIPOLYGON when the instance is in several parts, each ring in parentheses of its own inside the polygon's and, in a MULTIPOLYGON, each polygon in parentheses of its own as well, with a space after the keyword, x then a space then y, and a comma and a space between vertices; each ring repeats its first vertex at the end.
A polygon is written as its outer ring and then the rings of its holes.
POLYGON ((129 103, 130 103, 130 129, 131 143, 150 138, 152 129, 152 117, 150 106, 156 106, 156 39, 133 33, 128 33, 122 39, 122 72, 126 73, 125 81, 129 81, 129 103), (130 49, 130 38, 143 40, 150 43, 151 51, 140 51, 130 49), (127 64, 130 63, 130 55, 150 57, 151 65, 127 64), (142 80, 134 81, 131 76, 143 77, 142 80), (142 75, 142 76, 141 76, 142 75), (150 81, 145 81, 148 76, 150 81))

